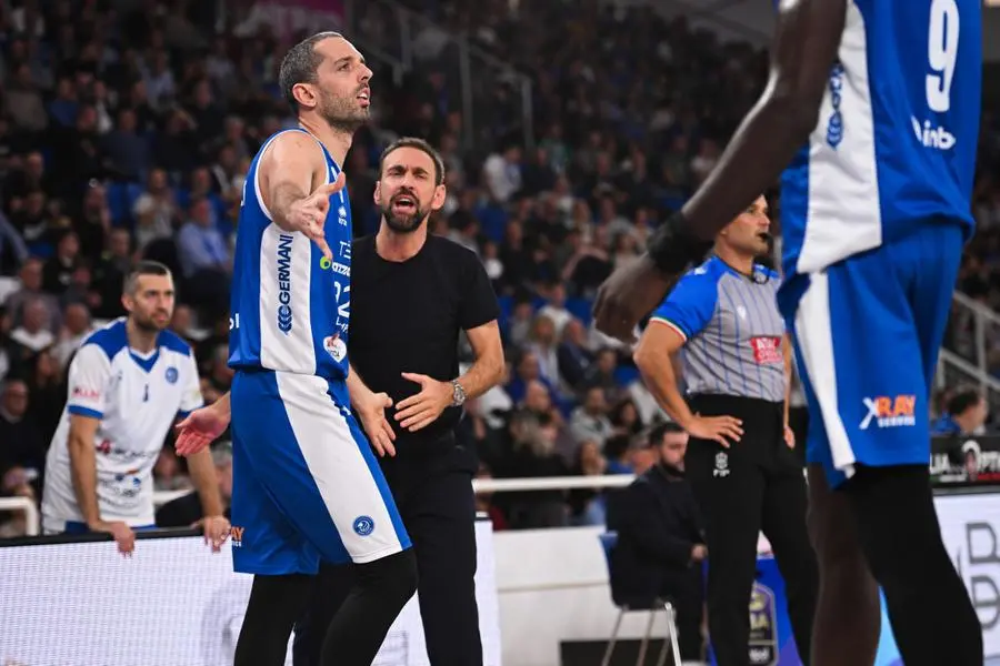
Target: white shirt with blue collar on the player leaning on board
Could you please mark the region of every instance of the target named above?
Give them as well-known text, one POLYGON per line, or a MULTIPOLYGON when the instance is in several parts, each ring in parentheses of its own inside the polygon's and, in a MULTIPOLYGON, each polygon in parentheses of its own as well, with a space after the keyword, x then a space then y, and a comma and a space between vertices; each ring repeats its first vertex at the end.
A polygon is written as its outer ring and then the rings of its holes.
POLYGON ((101 519, 137 528, 154 526, 152 468, 167 432, 178 414, 186 416, 202 405, 191 347, 163 331, 156 349, 140 354, 129 347, 126 320, 116 320, 77 350, 68 394, 46 457, 44 532, 87 531, 70 467, 72 415, 100 421, 93 446, 101 519))

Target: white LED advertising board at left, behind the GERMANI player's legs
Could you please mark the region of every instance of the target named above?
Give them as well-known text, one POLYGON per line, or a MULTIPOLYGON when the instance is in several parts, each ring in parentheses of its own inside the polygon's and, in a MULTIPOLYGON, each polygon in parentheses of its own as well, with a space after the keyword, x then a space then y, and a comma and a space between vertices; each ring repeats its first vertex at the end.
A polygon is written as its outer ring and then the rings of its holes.
MULTIPOLYGON (((500 666, 489 522, 477 543, 483 664, 500 666)), ((140 539, 130 558, 112 542, 0 547, 0 666, 231 665, 251 582, 197 536, 140 539)), ((373 666, 429 666, 416 596, 373 666)))

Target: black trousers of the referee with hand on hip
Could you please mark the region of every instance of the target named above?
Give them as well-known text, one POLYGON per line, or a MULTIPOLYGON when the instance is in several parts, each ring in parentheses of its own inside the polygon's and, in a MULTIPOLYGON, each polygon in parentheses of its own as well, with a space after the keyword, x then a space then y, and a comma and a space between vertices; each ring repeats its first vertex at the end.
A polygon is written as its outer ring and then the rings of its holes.
POLYGON ((806 527, 802 465, 783 438, 783 406, 699 395, 691 400, 691 410, 702 416, 729 415, 743 422, 740 442, 723 448, 717 442, 692 437, 684 458, 706 524, 709 636, 719 666, 750 664, 749 604, 761 531, 771 542, 784 579, 796 645, 808 664, 819 573, 806 527))

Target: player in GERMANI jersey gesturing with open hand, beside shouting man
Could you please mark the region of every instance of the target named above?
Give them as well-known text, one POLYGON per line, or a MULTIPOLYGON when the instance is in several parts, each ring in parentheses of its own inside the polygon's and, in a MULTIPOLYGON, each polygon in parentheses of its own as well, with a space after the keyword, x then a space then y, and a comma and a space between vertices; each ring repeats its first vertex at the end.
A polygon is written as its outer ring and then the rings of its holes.
POLYGON ((324 665, 370 666, 416 589, 410 538, 356 421, 392 454, 391 401, 369 391, 347 357, 352 233, 340 165, 368 120, 370 79, 333 32, 292 47, 281 63, 299 127, 264 142, 247 174, 232 391, 179 426, 178 451, 190 453, 224 430, 231 411, 233 568, 254 575, 236 666, 284 664, 320 559, 353 562, 359 574, 326 630, 324 665))

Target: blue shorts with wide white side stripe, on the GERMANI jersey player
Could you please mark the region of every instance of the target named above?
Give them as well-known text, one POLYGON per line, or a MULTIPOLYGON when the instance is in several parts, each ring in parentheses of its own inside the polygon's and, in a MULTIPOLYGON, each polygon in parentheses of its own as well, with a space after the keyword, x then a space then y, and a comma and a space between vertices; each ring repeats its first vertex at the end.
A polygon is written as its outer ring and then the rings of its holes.
POLYGON ((368 440, 331 389, 283 372, 233 377, 237 572, 316 574, 321 559, 360 564, 410 547, 368 440))

